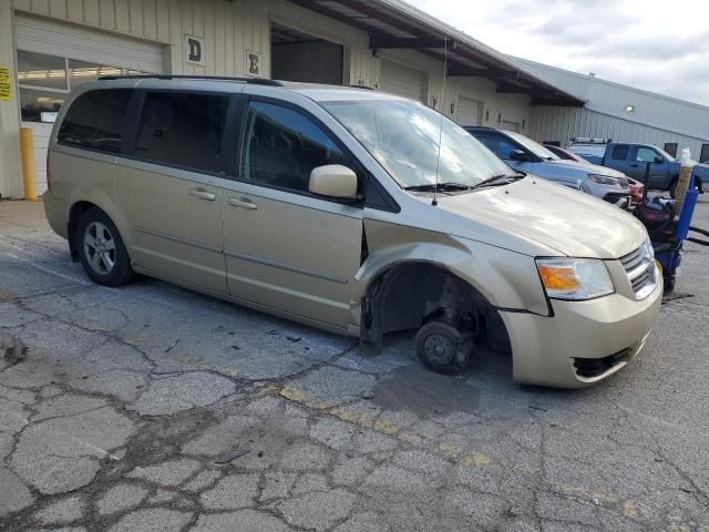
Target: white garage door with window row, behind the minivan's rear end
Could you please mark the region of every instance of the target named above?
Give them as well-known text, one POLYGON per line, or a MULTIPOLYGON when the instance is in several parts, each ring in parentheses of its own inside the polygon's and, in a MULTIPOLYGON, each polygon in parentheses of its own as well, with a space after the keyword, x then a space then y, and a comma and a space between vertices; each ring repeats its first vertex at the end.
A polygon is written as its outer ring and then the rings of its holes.
POLYGON ((34 132, 37 192, 47 190, 54 113, 72 86, 100 75, 162 73, 163 47, 43 19, 16 19, 22 126, 34 132))

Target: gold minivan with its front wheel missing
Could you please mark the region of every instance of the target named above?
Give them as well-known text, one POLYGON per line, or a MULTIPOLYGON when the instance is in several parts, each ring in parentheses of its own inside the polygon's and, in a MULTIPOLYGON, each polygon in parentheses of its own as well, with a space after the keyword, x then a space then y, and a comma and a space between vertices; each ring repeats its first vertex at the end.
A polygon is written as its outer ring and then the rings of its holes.
POLYGON ((417 331, 460 371, 484 344, 520 382, 627 365, 661 276, 643 225, 515 172, 379 92, 260 79, 82 84, 50 140, 44 208, 96 283, 134 273, 381 346, 417 331))

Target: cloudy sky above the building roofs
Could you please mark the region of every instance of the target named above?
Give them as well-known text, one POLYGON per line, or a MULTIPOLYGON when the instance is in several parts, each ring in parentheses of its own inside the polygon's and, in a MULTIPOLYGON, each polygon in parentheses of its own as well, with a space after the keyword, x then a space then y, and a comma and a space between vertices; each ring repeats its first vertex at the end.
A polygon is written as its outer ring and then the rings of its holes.
POLYGON ((709 0, 408 0, 496 50, 709 105, 709 0))

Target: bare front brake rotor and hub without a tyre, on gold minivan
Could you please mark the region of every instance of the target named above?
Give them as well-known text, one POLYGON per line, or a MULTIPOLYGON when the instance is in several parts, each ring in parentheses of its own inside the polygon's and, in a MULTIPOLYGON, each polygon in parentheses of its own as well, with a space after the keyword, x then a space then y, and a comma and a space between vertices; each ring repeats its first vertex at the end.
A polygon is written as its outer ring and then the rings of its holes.
POLYGON ((434 371, 458 374, 470 365, 472 342, 443 321, 430 321, 421 327, 415 342, 419 359, 434 371))

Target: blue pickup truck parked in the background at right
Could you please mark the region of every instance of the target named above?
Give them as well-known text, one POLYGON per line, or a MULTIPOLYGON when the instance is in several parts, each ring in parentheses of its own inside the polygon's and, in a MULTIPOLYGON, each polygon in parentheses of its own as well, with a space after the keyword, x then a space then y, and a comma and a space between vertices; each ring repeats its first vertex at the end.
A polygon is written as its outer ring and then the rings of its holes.
MULTIPOLYGON (((681 163, 657 146, 630 142, 573 140, 567 150, 589 163, 617 170, 640 183, 645 183, 645 172, 650 163, 650 183, 646 184, 648 188, 669 191, 675 197, 681 163)), ((699 187, 700 192, 705 187, 709 191, 709 165, 698 164, 695 167, 695 186, 699 187)))

